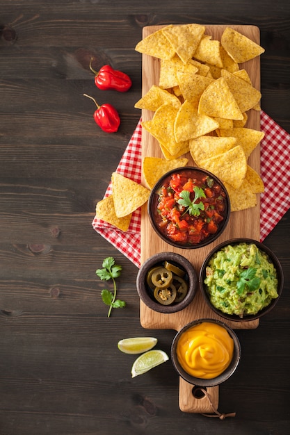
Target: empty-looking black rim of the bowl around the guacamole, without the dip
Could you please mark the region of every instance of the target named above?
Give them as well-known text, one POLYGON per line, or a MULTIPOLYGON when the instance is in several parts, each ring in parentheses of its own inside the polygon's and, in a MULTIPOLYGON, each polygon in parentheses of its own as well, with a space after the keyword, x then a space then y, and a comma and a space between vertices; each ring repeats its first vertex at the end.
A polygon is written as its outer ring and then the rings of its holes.
POLYGON ((217 245, 214 249, 212 249, 212 251, 208 254, 207 258, 205 258, 204 263, 202 264, 202 267, 200 268, 199 281, 200 281, 200 290, 202 292, 202 295, 204 297, 205 302, 210 306, 210 308, 216 314, 220 315, 221 318, 224 318, 226 320, 232 320, 232 321, 236 321, 236 322, 246 322, 249 320, 255 320, 255 319, 261 318, 261 316, 265 315, 266 313, 269 313, 269 311, 271 311, 274 308, 275 304, 277 304, 278 299, 280 298, 280 295, 282 293, 283 284, 284 284, 284 276, 283 276, 282 267, 280 265, 280 261, 278 260, 277 256, 275 256, 275 254, 271 251, 271 249, 269 249, 268 247, 263 245, 263 243, 258 242, 257 240, 253 240, 250 238, 234 238, 232 240, 226 240, 223 243, 220 243, 219 245, 217 245), (223 313, 223 311, 220 311, 220 309, 217 309, 211 303, 207 284, 204 284, 204 279, 206 278, 207 266, 209 264, 211 257, 214 254, 216 254, 216 252, 218 252, 220 249, 222 249, 223 247, 225 247, 227 245, 239 245, 240 243, 246 243, 248 245, 255 244, 258 247, 258 249, 261 250, 261 252, 264 252, 268 256, 268 260, 271 263, 273 263, 273 265, 277 271, 277 281, 278 281, 278 284, 277 284, 278 297, 275 299, 272 299, 271 303, 268 306, 266 306, 264 309, 261 309, 260 311, 258 311, 257 314, 243 315, 243 317, 240 317, 239 315, 235 315, 235 314, 223 313))

